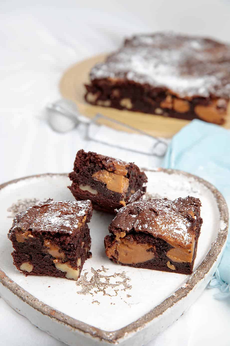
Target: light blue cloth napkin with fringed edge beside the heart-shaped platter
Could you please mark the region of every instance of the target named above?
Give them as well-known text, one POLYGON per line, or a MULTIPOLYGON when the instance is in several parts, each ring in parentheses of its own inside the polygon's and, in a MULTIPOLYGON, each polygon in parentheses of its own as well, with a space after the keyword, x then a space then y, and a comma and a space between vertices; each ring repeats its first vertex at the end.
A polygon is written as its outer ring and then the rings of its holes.
MULTIPOLYGON (((230 210, 230 131, 193 120, 177 133, 168 147, 164 168, 178 169, 202 177, 223 194, 230 210)), ((209 288, 219 287, 219 299, 230 296, 230 235, 209 288)))

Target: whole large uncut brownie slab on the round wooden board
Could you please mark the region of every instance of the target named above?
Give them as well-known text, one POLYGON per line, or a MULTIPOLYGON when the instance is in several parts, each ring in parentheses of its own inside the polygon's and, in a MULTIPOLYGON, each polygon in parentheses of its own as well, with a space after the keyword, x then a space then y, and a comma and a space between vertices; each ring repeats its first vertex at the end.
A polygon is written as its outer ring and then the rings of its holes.
POLYGON ((91 69, 86 89, 94 105, 224 124, 230 45, 173 33, 133 36, 91 69))

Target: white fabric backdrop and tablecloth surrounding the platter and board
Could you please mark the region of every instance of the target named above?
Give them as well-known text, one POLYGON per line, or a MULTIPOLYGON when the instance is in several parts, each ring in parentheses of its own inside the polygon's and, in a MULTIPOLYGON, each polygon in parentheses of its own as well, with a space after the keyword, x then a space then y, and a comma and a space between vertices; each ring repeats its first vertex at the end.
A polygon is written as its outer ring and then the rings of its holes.
MULTIPOLYGON (((174 30, 229 40, 230 2, 70 1, 0 2, 0 183, 44 172, 68 172, 81 147, 159 165, 140 156, 84 140, 84 126, 52 132, 44 106, 60 97, 58 81, 76 61, 116 49, 123 36, 174 30)), ((149 346, 230 345, 230 300, 205 290, 184 315, 149 346)), ((0 299, 0 345, 61 345, 0 299)), ((63 344, 62 344, 63 345, 63 344)))

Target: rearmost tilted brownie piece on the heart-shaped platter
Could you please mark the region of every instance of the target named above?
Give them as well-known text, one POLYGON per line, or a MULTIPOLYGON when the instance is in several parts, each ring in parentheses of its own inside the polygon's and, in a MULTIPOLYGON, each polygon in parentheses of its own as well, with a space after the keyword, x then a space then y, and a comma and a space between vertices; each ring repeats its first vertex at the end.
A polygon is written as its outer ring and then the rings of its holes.
POLYGON ((95 209, 107 212, 125 206, 134 194, 139 199, 146 191, 147 176, 134 163, 82 149, 69 177, 68 188, 76 199, 90 199, 95 209))

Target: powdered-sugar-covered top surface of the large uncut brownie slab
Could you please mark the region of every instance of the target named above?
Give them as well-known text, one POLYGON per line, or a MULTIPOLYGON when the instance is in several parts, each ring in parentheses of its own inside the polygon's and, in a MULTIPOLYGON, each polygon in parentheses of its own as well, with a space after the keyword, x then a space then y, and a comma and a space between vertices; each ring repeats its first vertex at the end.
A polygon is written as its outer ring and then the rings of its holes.
POLYGON ((91 80, 126 79, 167 88, 180 97, 229 98, 230 46, 200 37, 138 35, 97 64, 91 80))

